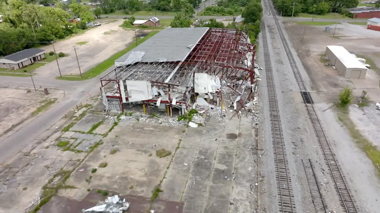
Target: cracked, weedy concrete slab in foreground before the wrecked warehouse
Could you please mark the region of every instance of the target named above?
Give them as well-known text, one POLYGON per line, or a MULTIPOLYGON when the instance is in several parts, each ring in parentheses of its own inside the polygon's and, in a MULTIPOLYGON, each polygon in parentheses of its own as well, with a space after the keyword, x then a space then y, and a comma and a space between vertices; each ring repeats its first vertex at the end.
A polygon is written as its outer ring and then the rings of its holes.
POLYGON ((257 142, 249 117, 214 114, 205 127, 192 128, 176 117, 110 116, 87 107, 72 112, 67 132, 0 167, 0 200, 10 199, 0 213, 31 210, 49 189, 57 196, 41 212, 79 213, 105 193, 131 202, 127 212, 256 210, 257 142), (11 204, 16 197, 18 205, 11 204))

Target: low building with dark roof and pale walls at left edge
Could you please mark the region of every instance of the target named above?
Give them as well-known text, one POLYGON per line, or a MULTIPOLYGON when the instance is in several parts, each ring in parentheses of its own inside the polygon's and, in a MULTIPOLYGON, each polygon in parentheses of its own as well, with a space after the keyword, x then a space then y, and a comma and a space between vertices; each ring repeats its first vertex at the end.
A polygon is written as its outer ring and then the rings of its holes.
POLYGON ((0 68, 20 69, 45 58, 45 50, 31 48, 0 58, 0 68))

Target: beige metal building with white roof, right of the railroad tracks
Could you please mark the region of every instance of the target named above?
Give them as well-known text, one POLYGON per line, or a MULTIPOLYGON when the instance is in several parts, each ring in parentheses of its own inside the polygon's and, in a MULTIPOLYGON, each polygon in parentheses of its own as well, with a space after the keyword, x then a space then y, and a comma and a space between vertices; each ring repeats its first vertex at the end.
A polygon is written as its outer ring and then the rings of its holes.
POLYGON ((326 56, 328 60, 344 78, 364 79, 367 67, 358 61, 351 53, 342 46, 327 46, 326 56))

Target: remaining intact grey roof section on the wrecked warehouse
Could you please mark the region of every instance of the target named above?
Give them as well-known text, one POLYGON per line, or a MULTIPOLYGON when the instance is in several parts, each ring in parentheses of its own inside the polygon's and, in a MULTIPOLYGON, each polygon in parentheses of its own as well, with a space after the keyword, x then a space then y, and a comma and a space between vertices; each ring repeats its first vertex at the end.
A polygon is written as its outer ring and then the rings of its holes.
POLYGON ((145 52, 141 62, 156 62, 163 58, 166 61, 182 61, 208 29, 165 28, 115 61, 125 61, 131 52, 137 51, 145 52))

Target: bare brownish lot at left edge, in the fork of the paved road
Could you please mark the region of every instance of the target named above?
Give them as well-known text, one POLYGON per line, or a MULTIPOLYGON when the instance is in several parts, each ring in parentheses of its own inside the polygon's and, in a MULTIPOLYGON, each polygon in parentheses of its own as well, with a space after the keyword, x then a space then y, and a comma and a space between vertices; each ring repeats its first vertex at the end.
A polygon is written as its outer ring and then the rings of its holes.
MULTIPOLYGON (((30 88, 29 88, 30 89, 30 88)), ((52 104, 58 102, 64 96, 61 90, 49 89, 45 95, 43 89, 26 93, 26 88, 0 88, 0 139, 5 134, 16 130, 38 112, 47 110, 52 104)))

